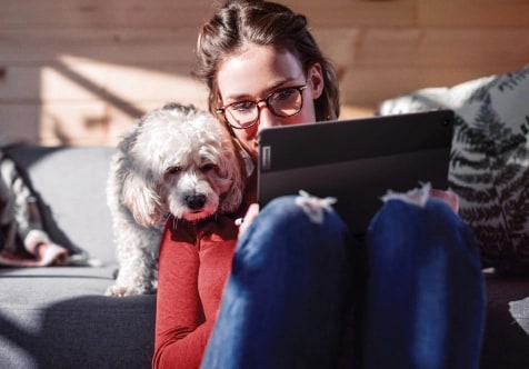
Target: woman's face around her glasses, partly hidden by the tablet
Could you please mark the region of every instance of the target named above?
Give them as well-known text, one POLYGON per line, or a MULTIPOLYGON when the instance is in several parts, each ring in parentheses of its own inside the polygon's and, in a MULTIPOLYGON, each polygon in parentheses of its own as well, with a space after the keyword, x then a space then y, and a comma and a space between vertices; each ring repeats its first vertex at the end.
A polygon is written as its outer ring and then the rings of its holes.
POLYGON ((264 102, 260 102, 257 123, 247 129, 233 129, 253 161, 257 161, 259 130, 272 126, 315 122, 313 100, 320 97, 323 89, 319 64, 310 67, 306 74, 298 58, 289 51, 256 44, 249 44, 242 52, 226 58, 218 68, 217 81, 221 106, 264 99, 275 91, 307 83, 299 113, 288 118, 276 117, 264 102))

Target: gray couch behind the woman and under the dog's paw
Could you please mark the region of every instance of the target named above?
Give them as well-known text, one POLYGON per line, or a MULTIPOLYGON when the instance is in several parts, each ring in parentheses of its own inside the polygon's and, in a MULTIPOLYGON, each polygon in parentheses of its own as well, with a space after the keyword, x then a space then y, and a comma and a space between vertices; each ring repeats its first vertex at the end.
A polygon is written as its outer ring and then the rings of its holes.
MULTIPOLYGON (((47 205, 56 239, 103 266, 0 269, 0 368, 149 368, 156 297, 103 296, 117 267, 104 197, 113 150, 10 152, 47 205)), ((488 272, 486 280, 481 368, 529 368, 529 279, 488 272)))

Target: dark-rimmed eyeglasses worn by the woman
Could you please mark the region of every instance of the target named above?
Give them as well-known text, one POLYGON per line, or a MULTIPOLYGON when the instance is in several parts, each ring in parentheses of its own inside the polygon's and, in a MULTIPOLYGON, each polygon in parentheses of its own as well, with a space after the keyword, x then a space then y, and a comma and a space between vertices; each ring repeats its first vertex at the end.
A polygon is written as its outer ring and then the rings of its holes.
POLYGON ((276 117, 292 117, 303 107, 303 90, 306 88, 307 83, 275 91, 264 99, 236 101, 218 108, 217 113, 224 114, 228 123, 234 129, 247 129, 257 123, 261 109, 260 102, 264 102, 276 117))

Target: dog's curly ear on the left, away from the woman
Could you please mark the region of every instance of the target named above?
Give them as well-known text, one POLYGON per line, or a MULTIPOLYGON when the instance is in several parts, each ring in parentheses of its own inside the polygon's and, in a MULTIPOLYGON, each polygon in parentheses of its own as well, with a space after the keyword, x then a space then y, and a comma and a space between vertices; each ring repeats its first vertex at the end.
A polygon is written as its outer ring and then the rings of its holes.
POLYGON ((163 221, 166 207, 161 191, 162 186, 150 170, 132 168, 123 179, 121 199, 139 225, 150 227, 163 221))

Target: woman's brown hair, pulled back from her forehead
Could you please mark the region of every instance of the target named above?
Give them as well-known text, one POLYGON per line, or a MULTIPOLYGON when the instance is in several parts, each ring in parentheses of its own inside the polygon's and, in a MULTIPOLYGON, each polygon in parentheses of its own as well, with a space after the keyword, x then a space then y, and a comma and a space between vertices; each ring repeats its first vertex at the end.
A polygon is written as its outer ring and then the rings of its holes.
POLYGON ((299 59, 306 73, 311 66, 319 63, 325 88, 315 101, 316 119, 338 118, 340 107, 336 71, 309 32, 306 17, 293 13, 285 6, 262 0, 228 0, 200 30, 193 74, 209 88, 209 110, 212 113, 216 113, 220 101, 217 68, 248 43, 288 50, 299 59))

